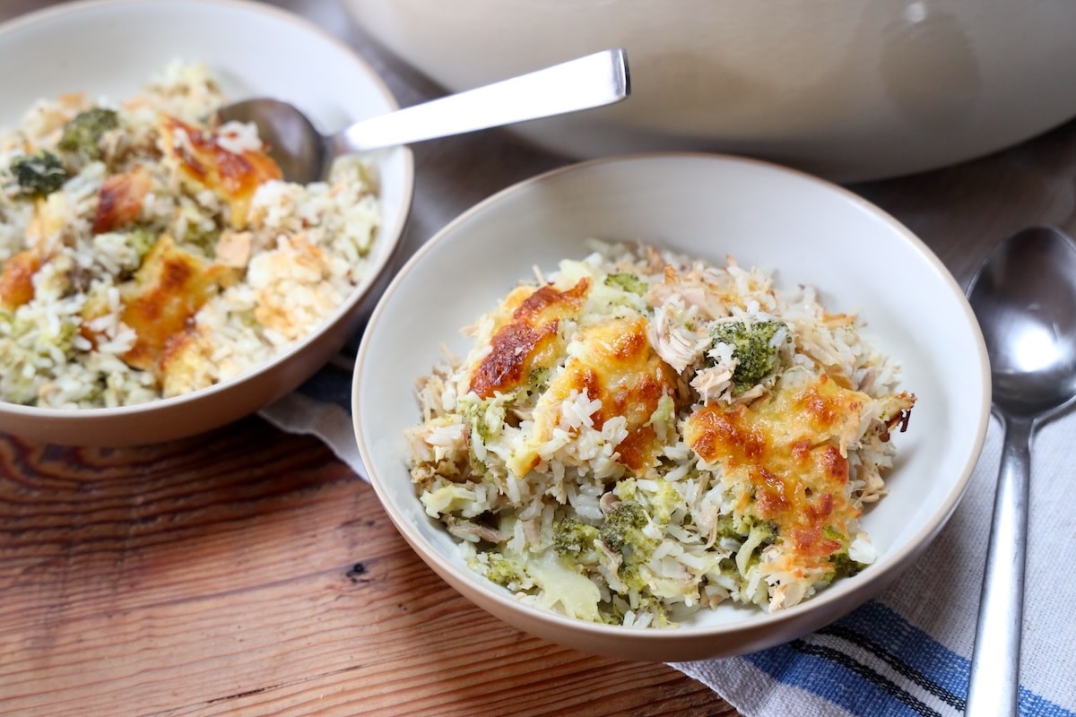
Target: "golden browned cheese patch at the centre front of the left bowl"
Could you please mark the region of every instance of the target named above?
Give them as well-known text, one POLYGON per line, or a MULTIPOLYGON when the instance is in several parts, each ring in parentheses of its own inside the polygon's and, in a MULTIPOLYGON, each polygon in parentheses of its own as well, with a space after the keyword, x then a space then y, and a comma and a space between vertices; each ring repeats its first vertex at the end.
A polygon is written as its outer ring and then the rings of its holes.
POLYGON ((229 271, 179 248, 162 234, 123 290, 123 321, 137 335, 124 361, 158 371, 169 340, 186 330, 229 271))

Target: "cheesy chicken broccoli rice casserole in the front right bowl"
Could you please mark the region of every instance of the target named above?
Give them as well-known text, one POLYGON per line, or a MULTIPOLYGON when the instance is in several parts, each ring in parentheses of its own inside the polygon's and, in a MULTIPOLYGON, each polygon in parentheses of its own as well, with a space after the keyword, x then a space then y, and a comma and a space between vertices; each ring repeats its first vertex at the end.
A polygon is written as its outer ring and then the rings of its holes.
POLYGON ((411 474, 467 563, 635 627, 778 611, 869 564, 859 518, 916 398, 858 318, 733 260, 594 246, 419 382, 411 474))

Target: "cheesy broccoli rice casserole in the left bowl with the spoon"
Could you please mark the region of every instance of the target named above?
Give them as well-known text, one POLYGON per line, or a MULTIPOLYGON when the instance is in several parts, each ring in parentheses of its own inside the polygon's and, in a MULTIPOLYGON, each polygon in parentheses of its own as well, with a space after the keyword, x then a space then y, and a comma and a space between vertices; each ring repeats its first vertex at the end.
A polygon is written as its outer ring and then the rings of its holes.
POLYGON ((306 338, 366 271, 371 166, 281 172, 253 125, 213 120, 175 62, 122 102, 66 95, 0 133, 0 399, 140 403, 243 374, 306 338))

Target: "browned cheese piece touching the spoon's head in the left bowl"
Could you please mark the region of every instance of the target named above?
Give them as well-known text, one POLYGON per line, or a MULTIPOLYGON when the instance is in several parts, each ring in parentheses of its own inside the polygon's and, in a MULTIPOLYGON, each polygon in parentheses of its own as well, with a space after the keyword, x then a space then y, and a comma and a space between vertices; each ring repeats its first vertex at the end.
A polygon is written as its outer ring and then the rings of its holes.
POLYGON ((211 189, 228 204, 231 210, 228 220, 235 229, 246 224, 251 200, 258 186, 281 178, 280 167, 266 153, 229 152, 214 132, 175 117, 162 118, 160 133, 165 152, 178 160, 184 176, 211 189))

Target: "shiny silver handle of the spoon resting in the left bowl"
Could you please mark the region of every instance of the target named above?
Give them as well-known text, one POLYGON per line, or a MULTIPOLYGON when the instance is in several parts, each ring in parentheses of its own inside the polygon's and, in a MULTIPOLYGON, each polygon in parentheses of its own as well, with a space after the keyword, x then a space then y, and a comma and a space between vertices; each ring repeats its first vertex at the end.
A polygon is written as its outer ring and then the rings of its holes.
POLYGON ((631 94, 627 56, 606 49, 360 120, 329 138, 332 156, 611 104, 631 94))

